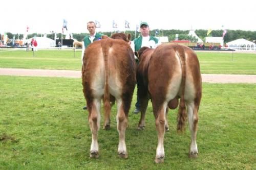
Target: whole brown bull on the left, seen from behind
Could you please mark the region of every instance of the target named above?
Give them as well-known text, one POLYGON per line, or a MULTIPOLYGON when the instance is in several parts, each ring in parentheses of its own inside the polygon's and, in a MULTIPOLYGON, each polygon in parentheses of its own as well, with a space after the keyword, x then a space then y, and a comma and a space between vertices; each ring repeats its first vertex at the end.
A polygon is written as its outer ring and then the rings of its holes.
POLYGON ((83 57, 82 85, 89 110, 92 132, 90 157, 98 157, 98 130, 100 127, 100 104, 105 110, 104 126, 110 122, 110 96, 117 103, 118 153, 127 158, 125 130, 128 112, 136 83, 136 63, 129 44, 123 40, 103 39, 88 46, 83 57))

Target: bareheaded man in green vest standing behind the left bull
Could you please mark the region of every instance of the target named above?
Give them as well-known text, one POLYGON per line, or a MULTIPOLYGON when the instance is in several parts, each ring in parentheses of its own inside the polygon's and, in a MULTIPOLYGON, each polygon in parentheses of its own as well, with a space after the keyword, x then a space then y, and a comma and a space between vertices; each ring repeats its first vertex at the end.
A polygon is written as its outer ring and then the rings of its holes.
MULTIPOLYGON (((96 33, 96 27, 94 21, 87 22, 87 30, 89 31, 89 35, 83 38, 83 41, 74 41, 73 46, 78 45, 82 46, 82 55, 81 59, 83 59, 84 52, 86 47, 93 43, 94 41, 100 40, 103 34, 96 33)), ((83 107, 83 110, 87 110, 87 106, 83 107)))

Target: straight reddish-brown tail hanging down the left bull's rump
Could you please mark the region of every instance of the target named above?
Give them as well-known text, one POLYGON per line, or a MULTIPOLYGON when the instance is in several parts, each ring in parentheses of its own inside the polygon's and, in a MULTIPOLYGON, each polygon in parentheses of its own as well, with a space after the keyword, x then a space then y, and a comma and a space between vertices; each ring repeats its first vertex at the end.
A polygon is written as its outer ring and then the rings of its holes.
POLYGON ((109 47, 108 45, 103 45, 102 52, 104 58, 104 69, 105 69, 105 84, 104 84, 104 96, 103 96, 103 103, 104 103, 104 110, 105 116, 110 116, 111 104, 110 104, 110 90, 109 90, 109 64, 108 64, 108 54, 109 54, 109 47))

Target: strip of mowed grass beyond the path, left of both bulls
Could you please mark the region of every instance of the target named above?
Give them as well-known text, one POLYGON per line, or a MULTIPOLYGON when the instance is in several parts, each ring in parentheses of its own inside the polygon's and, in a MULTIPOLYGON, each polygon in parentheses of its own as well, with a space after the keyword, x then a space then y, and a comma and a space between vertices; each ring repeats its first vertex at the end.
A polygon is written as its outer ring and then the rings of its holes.
POLYGON ((81 70, 81 50, 0 51, 0 67, 81 70))

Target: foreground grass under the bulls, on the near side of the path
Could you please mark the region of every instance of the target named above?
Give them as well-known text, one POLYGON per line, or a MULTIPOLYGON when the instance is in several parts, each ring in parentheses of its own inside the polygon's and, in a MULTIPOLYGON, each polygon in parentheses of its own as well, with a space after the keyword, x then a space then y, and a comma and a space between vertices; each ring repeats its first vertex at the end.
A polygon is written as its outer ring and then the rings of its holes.
POLYGON ((177 110, 169 111, 165 160, 157 147, 150 104, 146 128, 132 113, 126 130, 128 159, 117 154, 116 106, 111 130, 98 136, 100 157, 90 159, 91 131, 81 79, 0 76, 0 169, 255 169, 255 84, 203 83, 199 109, 199 157, 189 159, 190 134, 176 133, 177 110))

